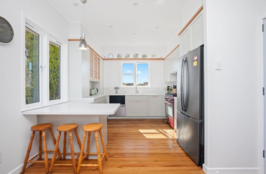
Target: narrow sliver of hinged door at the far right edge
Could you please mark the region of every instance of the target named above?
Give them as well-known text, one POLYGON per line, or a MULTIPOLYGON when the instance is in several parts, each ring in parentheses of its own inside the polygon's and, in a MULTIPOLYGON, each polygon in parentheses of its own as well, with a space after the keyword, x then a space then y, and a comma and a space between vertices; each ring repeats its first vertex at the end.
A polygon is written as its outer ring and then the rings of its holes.
MULTIPOLYGON (((263 20, 263 24, 264 26, 266 26, 266 19, 263 20)), ((263 32, 263 55, 264 55, 264 88, 266 88, 266 32, 265 31, 263 32)), ((266 149, 266 95, 264 95, 264 150, 265 149, 266 149)), ((264 159, 264 173, 266 173, 265 159, 264 159)))

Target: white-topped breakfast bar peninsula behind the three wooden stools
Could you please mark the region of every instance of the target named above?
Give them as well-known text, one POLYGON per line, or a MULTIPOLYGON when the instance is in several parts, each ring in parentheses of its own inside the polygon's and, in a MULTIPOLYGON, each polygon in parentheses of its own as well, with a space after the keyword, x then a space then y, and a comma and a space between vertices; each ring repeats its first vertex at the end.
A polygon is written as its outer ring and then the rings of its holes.
MULTIPOLYGON (((63 104, 57 104, 48 107, 42 107, 38 109, 23 111, 23 115, 33 115, 37 116, 37 123, 52 123, 54 127, 55 138, 57 137, 58 131, 56 130, 57 126, 67 124, 67 123, 76 123, 79 127, 77 131, 79 133, 79 139, 82 142, 84 131, 82 130, 83 125, 89 123, 101 123, 103 125, 102 133, 104 137, 104 142, 107 144, 107 115, 114 114, 120 104, 90 104, 89 101, 70 101, 63 104)), ((33 125, 32 125, 33 126, 33 125)), ((74 133, 72 133, 74 134, 74 133)), ((54 143, 52 141, 49 131, 46 131, 46 141, 47 149, 53 150, 54 143)), ((67 134, 67 136, 69 136, 67 134)), ((34 138, 35 146, 38 145, 38 135, 34 138)), ((26 139, 29 140, 29 139, 26 139)), ((66 139, 66 151, 70 152, 70 143, 69 138, 66 139)), ((87 141, 87 140, 86 140, 87 141)), ((80 152, 79 145, 76 141, 76 136, 73 136, 73 144, 75 152, 80 152)), ((34 146, 34 144, 33 144, 34 146)), ((101 151, 102 146, 100 142, 101 151)), ((60 151, 63 151, 63 135, 61 134, 59 142, 60 151)), ((90 152, 96 152, 96 143, 95 137, 91 136, 91 145, 90 152)), ((48 158, 52 157, 52 153, 48 153, 48 158)), ((66 158, 70 158, 67 156, 66 158)), ((91 159, 97 159, 96 155, 90 155, 91 159)))

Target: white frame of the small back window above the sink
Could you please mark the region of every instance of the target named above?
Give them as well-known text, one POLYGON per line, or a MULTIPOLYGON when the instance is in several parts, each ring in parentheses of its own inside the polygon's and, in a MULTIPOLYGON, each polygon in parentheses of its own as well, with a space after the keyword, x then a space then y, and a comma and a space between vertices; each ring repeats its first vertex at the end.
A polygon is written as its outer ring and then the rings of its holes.
POLYGON ((130 88, 130 87, 136 87, 136 85, 138 85, 137 84, 137 82, 138 82, 138 64, 148 64, 148 86, 137 86, 138 88, 147 88, 147 87, 151 87, 151 85, 150 85, 150 62, 149 61, 147 61, 147 62, 121 62, 121 87, 123 87, 123 88, 130 88), (132 73, 132 74, 128 74, 128 73, 126 73, 126 74, 124 74, 123 73, 123 64, 134 64, 134 73, 132 73), (133 86, 123 86, 123 76, 124 75, 133 75, 134 76, 134 82, 133 82, 133 86))

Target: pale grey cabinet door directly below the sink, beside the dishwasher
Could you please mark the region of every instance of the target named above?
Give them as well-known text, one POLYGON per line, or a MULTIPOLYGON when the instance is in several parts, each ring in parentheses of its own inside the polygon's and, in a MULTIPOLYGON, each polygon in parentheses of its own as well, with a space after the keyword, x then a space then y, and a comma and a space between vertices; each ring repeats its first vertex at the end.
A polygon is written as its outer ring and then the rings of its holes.
POLYGON ((127 117, 147 117, 148 101, 126 101, 127 117))

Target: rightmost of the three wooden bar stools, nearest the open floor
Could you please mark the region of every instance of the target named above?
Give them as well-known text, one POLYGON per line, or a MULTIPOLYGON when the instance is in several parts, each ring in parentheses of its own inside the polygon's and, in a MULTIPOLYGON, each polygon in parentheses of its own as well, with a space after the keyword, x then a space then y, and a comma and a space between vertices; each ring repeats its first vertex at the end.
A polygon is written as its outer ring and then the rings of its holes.
POLYGON ((96 167, 99 166, 99 170, 100 173, 103 173, 102 170, 102 160, 105 157, 105 160, 107 161, 107 152, 106 152, 106 148, 104 146, 104 138, 103 138, 103 134, 102 134, 102 129, 103 125, 100 123, 91 123, 88 125, 84 125, 83 126, 83 131, 85 131, 84 136, 83 136, 83 142, 82 142, 82 146, 81 146, 81 150, 80 150, 80 156, 79 156, 79 163, 78 163, 78 170, 77 173, 79 173, 80 167, 96 167), (96 149, 97 149, 97 153, 90 153, 90 138, 91 138, 91 132, 95 131, 95 141, 96 141, 96 149), (99 147, 99 143, 98 143, 98 134, 97 131, 99 131, 100 133, 100 137, 101 137, 101 142, 102 142, 102 146, 104 149, 104 153, 100 153, 100 147, 99 147), (87 132, 88 132, 88 142, 87 142, 87 152, 84 154, 84 146, 85 146, 85 141, 86 141, 86 137, 87 137, 87 132), (83 156, 84 154, 84 156, 83 156), (98 164, 81 164, 82 160, 86 157, 86 159, 89 159, 89 155, 97 155, 98 156, 98 164), (102 156, 101 156, 102 155, 102 156))

